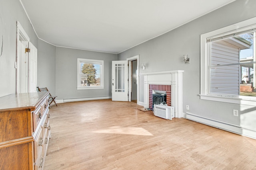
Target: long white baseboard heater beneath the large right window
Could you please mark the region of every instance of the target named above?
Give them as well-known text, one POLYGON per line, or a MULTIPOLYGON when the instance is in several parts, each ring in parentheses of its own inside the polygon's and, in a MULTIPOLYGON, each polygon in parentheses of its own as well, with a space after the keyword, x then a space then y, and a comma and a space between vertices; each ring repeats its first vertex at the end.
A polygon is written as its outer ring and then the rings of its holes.
POLYGON ((250 137, 253 139, 256 139, 256 131, 252 130, 252 129, 247 129, 244 127, 240 127, 237 125, 232 125, 230 123, 225 123, 222 121, 217 121, 214 119, 208 119, 206 117, 201 117, 198 115, 194 115, 192 113, 186 113, 186 119, 192 120, 192 121, 196 121, 198 123, 203 123, 205 125, 209 125, 212 127, 216 127, 225 131, 230 131, 232 133, 236 133, 239 135, 243 135, 246 137, 250 137))

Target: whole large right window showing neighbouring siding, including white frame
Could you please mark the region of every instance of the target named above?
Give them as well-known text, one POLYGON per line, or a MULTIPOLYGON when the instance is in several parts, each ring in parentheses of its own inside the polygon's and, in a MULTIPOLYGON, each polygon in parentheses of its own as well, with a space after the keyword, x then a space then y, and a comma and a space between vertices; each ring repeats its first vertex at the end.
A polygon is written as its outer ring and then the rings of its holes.
POLYGON ((200 99, 256 106, 256 18, 201 35, 200 99))

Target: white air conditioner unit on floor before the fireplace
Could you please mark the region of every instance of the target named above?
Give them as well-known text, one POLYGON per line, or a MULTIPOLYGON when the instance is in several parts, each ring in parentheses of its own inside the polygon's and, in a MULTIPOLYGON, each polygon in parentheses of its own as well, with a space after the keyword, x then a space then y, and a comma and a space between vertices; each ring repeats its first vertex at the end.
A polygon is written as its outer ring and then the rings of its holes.
POLYGON ((172 120, 174 117, 174 107, 154 104, 154 115, 164 119, 172 120))

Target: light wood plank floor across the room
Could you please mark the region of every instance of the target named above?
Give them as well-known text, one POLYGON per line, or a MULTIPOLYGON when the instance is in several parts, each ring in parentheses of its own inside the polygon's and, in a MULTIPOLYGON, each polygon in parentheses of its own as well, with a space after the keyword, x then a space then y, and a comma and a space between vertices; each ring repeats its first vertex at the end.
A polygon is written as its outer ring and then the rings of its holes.
POLYGON ((111 100, 52 107, 44 170, 256 169, 256 140, 141 107, 111 100))

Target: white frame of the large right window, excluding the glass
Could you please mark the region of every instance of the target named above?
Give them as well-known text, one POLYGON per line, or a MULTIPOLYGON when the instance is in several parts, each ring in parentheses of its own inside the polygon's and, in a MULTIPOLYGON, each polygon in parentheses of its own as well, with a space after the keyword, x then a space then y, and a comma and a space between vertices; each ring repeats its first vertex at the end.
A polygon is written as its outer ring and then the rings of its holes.
POLYGON ((214 39, 256 29, 256 17, 200 35, 200 99, 256 106, 256 97, 210 93, 210 43, 214 39))

